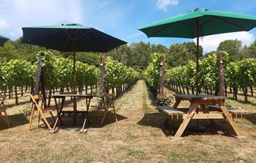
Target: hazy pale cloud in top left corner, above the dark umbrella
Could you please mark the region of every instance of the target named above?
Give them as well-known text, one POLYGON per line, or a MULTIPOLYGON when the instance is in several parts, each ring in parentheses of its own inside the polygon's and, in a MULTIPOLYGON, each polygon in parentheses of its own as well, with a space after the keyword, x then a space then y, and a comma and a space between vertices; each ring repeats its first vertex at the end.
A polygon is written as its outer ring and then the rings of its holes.
POLYGON ((13 39, 22 36, 22 27, 82 22, 81 0, 0 1, 1 34, 13 39))

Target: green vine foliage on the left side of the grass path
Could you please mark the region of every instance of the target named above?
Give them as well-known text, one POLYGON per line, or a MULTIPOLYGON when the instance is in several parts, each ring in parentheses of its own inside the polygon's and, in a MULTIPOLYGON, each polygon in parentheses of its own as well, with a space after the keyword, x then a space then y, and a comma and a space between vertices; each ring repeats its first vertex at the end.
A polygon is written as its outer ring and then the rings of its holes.
MULTIPOLYGON (((42 55, 42 72, 46 89, 52 87, 71 87, 73 85, 73 61, 69 58, 60 58, 52 51, 40 51, 42 55)), ((25 60, 10 60, 0 62, 0 89, 6 86, 31 86, 34 84, 37 64, 25 60)), ((94 85, 97 83, 100 69, 94 65, 76 61, 76 85, 94 85)), ((118 87, 121 84, 138 79, 138 73, 112 58, 106 59, 106 77, 109 87, 118 87)))

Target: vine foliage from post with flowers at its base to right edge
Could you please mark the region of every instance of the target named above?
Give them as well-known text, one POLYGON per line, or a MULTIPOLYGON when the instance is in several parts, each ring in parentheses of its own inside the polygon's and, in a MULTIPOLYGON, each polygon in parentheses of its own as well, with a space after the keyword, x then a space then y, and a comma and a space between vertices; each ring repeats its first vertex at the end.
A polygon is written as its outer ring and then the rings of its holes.
MULTIPOLYGON (((218 53, 207 55, 199 61, 199 86, 216 87, 218 84, 218 53)), ((231 87, 255 87, 256 85, 256 59, 249 58, 229 63, 228 53, 223 54, 225 64, 225 82, 231 87)), ((183 67, 173 67, 165 70, 165 81, 173 84, 188 86, 195 85, 195 62, 183 67)))

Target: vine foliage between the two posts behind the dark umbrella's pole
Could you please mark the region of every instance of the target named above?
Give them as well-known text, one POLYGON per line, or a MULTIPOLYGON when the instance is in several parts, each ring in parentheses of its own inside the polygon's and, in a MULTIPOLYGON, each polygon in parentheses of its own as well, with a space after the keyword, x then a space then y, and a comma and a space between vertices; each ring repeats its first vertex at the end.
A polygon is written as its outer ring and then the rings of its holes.
MULTIPOLYGON (((50 51, 43 52, 43 73, 47 88, 73 85, 73 61, 69 58, 57 58, 50 51)), ((77 86, 96 84, 99 73, 94 65, 76 61, 77 86)))

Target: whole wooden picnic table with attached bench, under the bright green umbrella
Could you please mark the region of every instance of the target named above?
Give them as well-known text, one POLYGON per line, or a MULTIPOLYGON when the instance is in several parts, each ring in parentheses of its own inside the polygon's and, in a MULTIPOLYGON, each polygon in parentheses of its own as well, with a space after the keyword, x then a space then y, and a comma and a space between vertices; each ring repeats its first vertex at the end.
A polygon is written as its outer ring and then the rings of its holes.
POLYGON ((234 132, 237 135, 237 138, 246 138, 240 132, 240 129, 237 126, 237 123, 234 122, 234 119, 229 113, 228 108, 225 107, 224 102, 227 99, 226 96, 212 96, 212 95, 194 95, 194 94, 176 94, 176 102, 174 103, 173 108, 168 106, 159 107, 159 111, 164 112, 171 116, 171 119, 174 119, 173 116, 176 116, 177 119, 183 119, 183 122, 180 124, 179 129, 174 135, 174 138, 180 139, 183 134, 186 126, 189 124, 189 121, 192 119, 200 120, 207 119, 210 120, 210 123, 215 124, 215 119, 225 119, 228 123, 231 124, 231 127, 234 129, 234 132), (188 100, 190 102, 189 108, 179 108, 180 102, 183 100, 188 100), (210 108, 208 105, 218 105, 218 108, 210 108))

